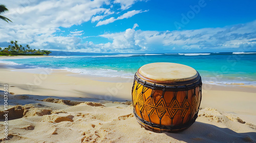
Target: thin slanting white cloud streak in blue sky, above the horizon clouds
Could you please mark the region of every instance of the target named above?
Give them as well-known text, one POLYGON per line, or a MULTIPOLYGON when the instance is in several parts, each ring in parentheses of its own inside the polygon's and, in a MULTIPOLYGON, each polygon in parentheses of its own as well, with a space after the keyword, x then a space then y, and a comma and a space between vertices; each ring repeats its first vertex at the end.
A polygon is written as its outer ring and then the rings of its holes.
POLYGON ((120 20, 120 19, 124 19, 124 18, 130 18, 138 13, 142 13, 142 12, 147 12, 148 10, 142 11, 142 10, 132 10, 132 11, 128 11, 126 13, 124 13, 121 16, 118 16, 117 18, 111 17, 109 19, 105 19, 103 21, 99 21, 96 25, 96 27, 98 26, 102 26, 102 25, 108 25, 109 23, 112 23, 116 20, 120 20))

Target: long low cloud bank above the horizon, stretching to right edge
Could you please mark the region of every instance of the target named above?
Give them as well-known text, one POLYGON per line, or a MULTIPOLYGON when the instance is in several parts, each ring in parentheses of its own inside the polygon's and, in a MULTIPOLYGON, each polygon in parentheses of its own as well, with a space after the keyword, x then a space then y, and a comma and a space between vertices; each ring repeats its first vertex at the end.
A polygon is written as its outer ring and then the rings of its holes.
MULTIPOLYGON (((204 28, 184 31, 141 31, 127 29, 124 32, 99 35, 113 40, 108 43, 112 52, 160 52, 189 49, 256 50, 256 20, 242 25, 224 28, 204 28), (246 46, 247 49, 243 49, 246 46)), ((135 24, 134 27, 137 27, 135 24)), ((103 49, 103 48, 102 48, 103 49)))

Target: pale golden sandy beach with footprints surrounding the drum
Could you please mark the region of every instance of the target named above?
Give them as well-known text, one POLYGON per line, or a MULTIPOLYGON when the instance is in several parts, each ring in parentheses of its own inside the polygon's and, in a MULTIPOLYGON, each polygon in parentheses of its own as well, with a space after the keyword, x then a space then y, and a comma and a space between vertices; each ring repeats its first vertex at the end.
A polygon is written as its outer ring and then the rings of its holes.
MULTIPOLYGON (((8 141, 256 142, 254 86, 204 84, 199 116, 191 127, 154 133, 141 128, 133 115, 132 82, 0 64, 1 106, 5 84, 9 92, 8 141)), ((1 109, 0 142, 5 142, 1 109)))

